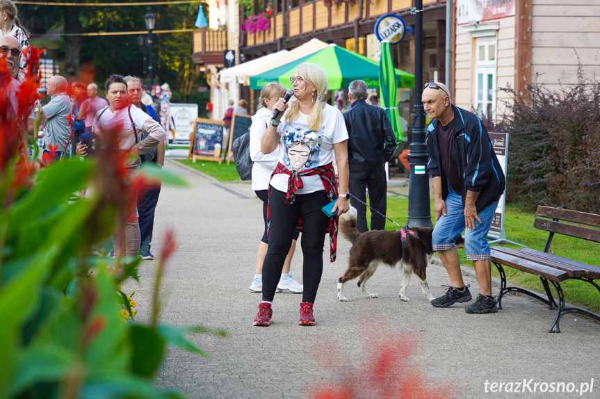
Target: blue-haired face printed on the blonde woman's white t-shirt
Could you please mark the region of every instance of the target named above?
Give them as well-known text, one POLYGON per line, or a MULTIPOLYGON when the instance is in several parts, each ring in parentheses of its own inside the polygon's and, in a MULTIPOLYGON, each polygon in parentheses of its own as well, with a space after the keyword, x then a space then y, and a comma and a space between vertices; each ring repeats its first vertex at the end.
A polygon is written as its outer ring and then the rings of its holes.
POLYGON ((315 132, 307 130, 303 124, 292 123, 285 127, 282 136, 286 147, 284 155, 286 168, 301 172, 319 164, 323 128, 315 132))

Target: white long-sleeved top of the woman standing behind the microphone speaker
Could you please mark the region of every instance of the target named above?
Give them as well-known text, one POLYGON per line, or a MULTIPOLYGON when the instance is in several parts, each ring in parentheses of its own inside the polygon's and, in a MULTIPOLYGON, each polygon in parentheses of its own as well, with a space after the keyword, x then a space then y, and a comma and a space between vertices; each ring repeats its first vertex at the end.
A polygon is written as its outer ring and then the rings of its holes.
POLYGON ((252 125, 250 126, 250 158, 254 161, 252 165, 252 190, 267 190, 269 188, 269 179, 273 170, 277 167, 277 151, 270 154, 261 152, 261 138, 273 117, 273 111, 268 108, 260 108, 252 116, 252 125))

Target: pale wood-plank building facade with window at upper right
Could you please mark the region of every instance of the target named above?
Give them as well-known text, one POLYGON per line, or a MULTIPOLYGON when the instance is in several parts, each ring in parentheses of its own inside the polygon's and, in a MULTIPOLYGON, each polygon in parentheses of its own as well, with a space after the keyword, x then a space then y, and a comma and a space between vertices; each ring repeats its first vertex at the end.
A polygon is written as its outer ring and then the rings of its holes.
POLYGON ((451 92, 457 106, 502 115, 512 88, 550 90, 600 74, 600 0, 456 0, 451 92))

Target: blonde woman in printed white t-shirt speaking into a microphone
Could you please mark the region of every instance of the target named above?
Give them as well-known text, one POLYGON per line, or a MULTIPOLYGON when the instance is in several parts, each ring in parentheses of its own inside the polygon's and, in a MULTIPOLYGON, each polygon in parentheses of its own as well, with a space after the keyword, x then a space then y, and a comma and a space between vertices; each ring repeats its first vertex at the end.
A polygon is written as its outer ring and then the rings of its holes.
POLYGON ((288 104, 280 98, 273 105, 280 111, 271 119, 263 138, 261 152, 277 154, 278 163, 269 188, 269 247, 263 263, 263 302, 254 325, 269 325, 271 304, 279 273, 301 219, 302 272, 304 290, 300 303, 299 325, 314 325, 313 304, 323 274, 325 233, 330 230, 330 260, 335 260, 337 221, 350 209, 348 194, 348 131, 343 116, 323 98, 327 76, 318 65, 298 65, 290 79, 294 97, 288 104), (283 115, 282 119, 282 114, 283 115), (338 182, 333 161, 337 163, 338 182), (321 208, 334 202, 328 218, 321 208))

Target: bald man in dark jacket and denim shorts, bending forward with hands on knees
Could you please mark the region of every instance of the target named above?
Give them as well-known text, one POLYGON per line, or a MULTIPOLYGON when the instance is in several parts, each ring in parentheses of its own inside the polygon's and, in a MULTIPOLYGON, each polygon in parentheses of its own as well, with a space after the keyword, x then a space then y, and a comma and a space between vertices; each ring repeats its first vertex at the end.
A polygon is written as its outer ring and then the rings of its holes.
POLYGON ((448 307, 471 300, 469 287, 462 281, 455 245, 455 239, 466 228, 464 252, 475 266, 480 294, 464 310, 471 314, 494 313, 498 307, 492 297, 487 233, 504 192, 505 177, 485 127, 473 113, 453 106, 449 93, 443 83, 426 83, 422 97, 431 118, 426 141, 436 220, 432 244, 452 284, 431 304, 448 307))

